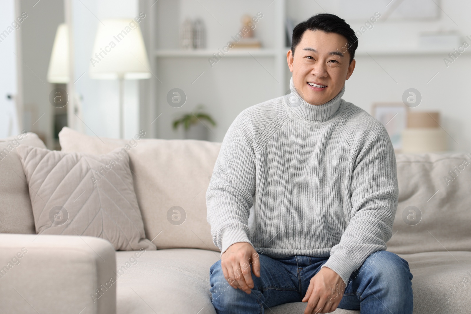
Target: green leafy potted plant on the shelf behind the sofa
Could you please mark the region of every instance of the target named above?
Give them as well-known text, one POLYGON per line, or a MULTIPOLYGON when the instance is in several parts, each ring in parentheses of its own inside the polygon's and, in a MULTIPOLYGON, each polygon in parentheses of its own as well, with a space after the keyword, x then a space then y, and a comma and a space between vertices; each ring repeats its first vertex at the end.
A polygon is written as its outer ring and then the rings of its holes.
POLYGON ((185 139, 208 140, 208 128, 202 120, 206 120, 214 127, 216 122, 208 113, 203 113, 203 105, 199 104, 195 107, 195 113, 185 113, 179 119, 173 121, 173 129, 178 129, 180 124, 183 125, 185 139))

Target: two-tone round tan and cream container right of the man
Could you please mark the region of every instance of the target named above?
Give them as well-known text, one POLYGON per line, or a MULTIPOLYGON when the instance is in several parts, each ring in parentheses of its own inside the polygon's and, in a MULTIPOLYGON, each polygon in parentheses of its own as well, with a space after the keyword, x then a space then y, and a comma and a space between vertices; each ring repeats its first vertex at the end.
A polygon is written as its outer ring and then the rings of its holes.
POLYGON ((402 131, 401 153, 432 153, 447 150, 447 134, 439 124, 440 113, 411 111, 402 131))

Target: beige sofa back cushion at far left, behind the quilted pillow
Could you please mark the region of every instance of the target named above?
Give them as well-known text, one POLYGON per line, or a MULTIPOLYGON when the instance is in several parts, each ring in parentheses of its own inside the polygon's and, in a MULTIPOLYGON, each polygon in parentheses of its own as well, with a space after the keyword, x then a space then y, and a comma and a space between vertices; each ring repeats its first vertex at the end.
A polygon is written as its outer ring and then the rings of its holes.
POLYGON ((34 133, 0 139, 0 233, 35 233, 31 201, 16 147, 46 148, 34 133))

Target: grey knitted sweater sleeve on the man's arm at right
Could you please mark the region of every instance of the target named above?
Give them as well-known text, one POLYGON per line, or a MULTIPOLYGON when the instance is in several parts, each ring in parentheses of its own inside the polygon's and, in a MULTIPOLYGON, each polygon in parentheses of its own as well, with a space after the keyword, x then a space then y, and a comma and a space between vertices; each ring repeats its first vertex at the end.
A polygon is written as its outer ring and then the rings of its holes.
POLYGON ((351 219, 322 266, 335 271, 346 284, 370 254, 386 250, 392 236, 399 195, 396 155, 381 127, 357 155, 350 184, 351 219))

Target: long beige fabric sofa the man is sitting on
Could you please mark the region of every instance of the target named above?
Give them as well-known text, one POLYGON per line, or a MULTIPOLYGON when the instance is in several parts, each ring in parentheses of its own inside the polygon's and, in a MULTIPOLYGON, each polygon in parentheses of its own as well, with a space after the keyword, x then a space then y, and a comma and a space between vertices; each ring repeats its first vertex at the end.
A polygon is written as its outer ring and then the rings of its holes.
MULTIPOLYGON (((146 237, 157 250, 115 252, 99 238, 36 234, 11 140, 0 140, 0 313, 215 313, 209 268, 220 251, 206 221, 205 193, 220 143, 61 131, 63 151, 122 147, 130 155, 146 237)), ((17 142, 44 147, 32 133, 17 142)), ((409 262, 416 314, 471 313, 470 161, 465 153, 397 155, 399 204, 388 250, 409 262)))

